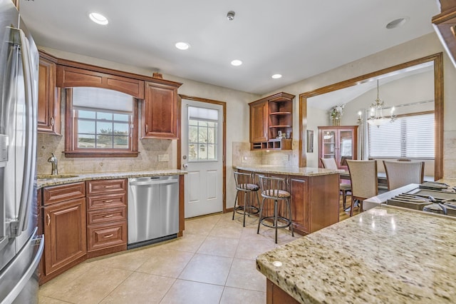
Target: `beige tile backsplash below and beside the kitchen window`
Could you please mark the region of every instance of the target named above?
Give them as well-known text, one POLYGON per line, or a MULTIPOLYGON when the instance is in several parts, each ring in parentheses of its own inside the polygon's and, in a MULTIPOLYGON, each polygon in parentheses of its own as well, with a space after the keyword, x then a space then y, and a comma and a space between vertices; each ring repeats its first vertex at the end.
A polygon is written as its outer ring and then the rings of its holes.
POLYGON ((138 157, 132 158, 66 158, 65 138, 38 133, 37 174, 51 174, 51 153, 58 159, 58 173, 92 173, 113 171, 145 171, 172 168, 172 141, 169 139, 142 139, 138 143, 138 157), (163 161, 163 155, 168 161, 163 161), (161 156, 159 161, 159 156, 161 156))

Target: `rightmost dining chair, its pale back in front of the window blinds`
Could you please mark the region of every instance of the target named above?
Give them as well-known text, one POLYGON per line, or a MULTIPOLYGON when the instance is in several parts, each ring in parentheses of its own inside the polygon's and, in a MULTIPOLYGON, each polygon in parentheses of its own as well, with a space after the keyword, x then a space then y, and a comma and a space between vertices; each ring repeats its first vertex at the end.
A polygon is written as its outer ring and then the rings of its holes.
POLYGON ((424 181, 424 161, 383 161, 383 166, 385 166, 388 190, 424 181))

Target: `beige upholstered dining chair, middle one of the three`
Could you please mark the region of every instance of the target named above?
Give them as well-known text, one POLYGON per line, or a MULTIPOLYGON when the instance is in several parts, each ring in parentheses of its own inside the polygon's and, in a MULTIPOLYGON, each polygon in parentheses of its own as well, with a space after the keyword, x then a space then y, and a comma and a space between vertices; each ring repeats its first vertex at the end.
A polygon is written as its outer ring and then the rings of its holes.
POLYGON ((350 216, 353 216, 353 205, 359 201, 360 212, 363 201, 378 195, 377 161, 347 160, 351 179, 350 216))

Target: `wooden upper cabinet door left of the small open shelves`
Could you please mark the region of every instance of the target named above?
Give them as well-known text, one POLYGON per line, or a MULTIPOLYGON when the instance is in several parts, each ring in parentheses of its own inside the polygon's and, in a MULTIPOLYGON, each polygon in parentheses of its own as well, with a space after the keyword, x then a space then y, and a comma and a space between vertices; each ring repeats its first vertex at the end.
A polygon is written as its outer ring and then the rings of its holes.
POLYGON ((262 101, 250 105, 250 142, 268 140, 268 103, 262 101))

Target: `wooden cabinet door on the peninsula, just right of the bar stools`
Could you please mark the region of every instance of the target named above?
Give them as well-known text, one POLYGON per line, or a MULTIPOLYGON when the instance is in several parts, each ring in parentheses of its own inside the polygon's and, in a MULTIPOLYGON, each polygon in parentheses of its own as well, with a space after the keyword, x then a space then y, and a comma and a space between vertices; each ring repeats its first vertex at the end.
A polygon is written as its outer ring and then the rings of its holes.
POLYGON ((290 176, 289 181, 294 228, 299 232, 311 233, 309 178, 290 176))

